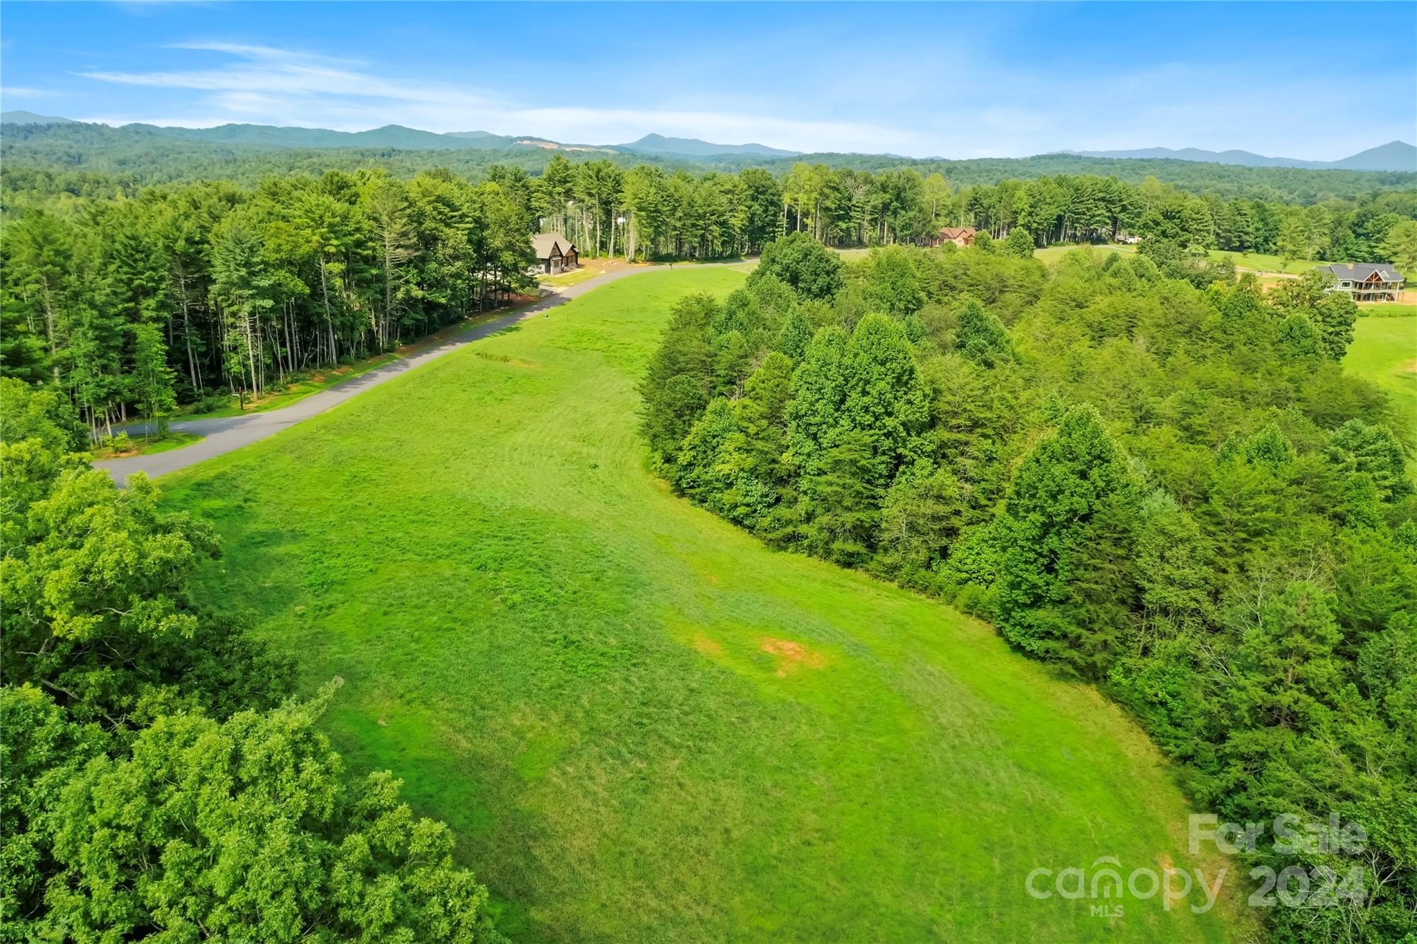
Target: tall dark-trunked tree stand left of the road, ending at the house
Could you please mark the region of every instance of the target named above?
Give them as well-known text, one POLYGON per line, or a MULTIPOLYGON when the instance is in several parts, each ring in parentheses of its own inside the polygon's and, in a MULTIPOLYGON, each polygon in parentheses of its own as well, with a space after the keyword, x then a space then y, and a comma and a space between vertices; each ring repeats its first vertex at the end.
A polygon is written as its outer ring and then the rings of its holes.
POLYGON ((261 396, 530 289, 516 197, 332 171, 31 207, 0 234, 3 372, 51 378, 94 430, 261 396))

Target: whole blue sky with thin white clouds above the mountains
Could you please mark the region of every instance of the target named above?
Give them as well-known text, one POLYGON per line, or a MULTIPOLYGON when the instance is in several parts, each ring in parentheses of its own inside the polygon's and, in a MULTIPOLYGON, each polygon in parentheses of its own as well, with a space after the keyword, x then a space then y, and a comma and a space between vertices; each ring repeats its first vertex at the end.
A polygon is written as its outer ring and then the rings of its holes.
POLYGON ((0 102, 112 125, 1332 160, 1417 127, 1417 4, 6 0, 0 102))

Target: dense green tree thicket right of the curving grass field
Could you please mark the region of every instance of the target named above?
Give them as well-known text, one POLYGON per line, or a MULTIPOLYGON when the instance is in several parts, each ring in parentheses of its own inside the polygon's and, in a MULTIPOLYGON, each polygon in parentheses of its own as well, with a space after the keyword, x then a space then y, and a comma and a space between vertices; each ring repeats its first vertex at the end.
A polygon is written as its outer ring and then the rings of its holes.
POLYGON ((1360 855, 1246 856, 1312 879, 1285 903, 1336 889, 1270 909, 1274 940, 1411 940, 1414 430, 1340 368, 1356 306, 1159 239, 1056 270, 996 248, 843 265, 794 234, 683 299, 642 384, 657 470, 1097 684, 1197 810, 1360 824, 1360 855))

